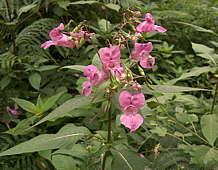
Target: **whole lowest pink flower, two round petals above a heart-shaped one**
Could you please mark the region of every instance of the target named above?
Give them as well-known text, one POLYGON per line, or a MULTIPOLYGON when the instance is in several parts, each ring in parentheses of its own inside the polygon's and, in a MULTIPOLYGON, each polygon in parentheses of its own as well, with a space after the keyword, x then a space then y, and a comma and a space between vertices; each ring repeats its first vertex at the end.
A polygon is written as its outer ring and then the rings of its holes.
POLYGON ((144 106, 145 98, 142 93, 131 94, 128 91, 123 91, 119 96, 119 103, 124 114, 120 117, 120 122, 131 132, 138 129, 144 119, 138 113, 139 109, 144 106))

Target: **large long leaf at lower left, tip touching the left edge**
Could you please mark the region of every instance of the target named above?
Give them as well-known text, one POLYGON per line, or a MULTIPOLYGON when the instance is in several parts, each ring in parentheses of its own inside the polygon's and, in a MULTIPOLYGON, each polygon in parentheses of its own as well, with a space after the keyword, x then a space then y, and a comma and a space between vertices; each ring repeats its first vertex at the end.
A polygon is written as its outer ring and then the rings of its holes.
POLYGON ((81 137, 84 137, 84 135, 88 135, 89 133, 90 132, 85 127, 77 127, 74 124, 67 124, 62 127, 57 134, 43 134, 36 136, 29 141, 18 144, 0 153, 0 156, 57 149, 70 143, 76 143, 81 139, 81 137))

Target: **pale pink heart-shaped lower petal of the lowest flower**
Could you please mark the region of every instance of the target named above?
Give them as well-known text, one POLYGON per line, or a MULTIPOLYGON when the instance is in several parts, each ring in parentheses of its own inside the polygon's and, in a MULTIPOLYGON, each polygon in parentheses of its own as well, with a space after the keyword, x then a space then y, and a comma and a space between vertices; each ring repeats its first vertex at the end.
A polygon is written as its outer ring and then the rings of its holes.
POLYGON ((123 114, 120 117, 120 122, 125 127, 129 128, 131 132, 137 130, 143 123, 144 119, 140 114, 123 114))

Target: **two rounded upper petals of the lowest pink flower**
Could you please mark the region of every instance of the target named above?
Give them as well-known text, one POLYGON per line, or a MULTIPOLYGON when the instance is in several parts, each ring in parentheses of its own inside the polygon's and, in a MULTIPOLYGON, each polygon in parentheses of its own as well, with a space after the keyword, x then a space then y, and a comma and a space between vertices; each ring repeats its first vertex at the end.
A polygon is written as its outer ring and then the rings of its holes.
POLYGON ((131 94, 128 91, 123 91, 119 95, 119 103, 124 110, 130 106, 141 108, 145 104, 145 98, 142 93, 131 94))

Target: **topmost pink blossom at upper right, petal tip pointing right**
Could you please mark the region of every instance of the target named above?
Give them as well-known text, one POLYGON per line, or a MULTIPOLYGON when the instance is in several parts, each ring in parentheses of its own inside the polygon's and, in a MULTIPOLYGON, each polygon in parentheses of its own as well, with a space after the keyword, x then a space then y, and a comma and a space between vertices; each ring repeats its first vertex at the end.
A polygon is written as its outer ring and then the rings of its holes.
POLYGON ((155 21, 153 19, 153 16, 150 13, 147 13, 145 15, 145 21, 140 23, 136 27, 137 32, 140 33, 146 33, 146 32, 153 32, 153 31, 159 31, 159 32, 166 32, 167 30, 161 26, 155 25, 155 21))

